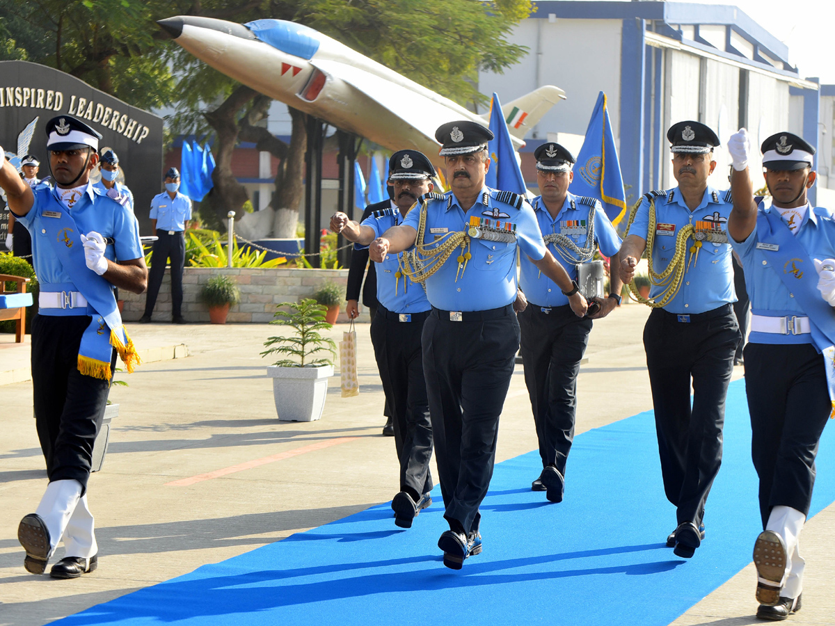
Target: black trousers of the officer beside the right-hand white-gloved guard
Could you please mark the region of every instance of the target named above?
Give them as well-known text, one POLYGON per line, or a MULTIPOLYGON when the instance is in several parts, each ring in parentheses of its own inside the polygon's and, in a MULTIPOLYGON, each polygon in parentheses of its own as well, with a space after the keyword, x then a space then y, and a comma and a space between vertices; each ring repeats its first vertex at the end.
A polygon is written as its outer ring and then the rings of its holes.
POLYGON ((725 397, 740 336, 731 305, 691 315, 689 323, 679 317, 654 309, 644 346, 664 491, 678 523, 698 526, 721 465, 725 397))

